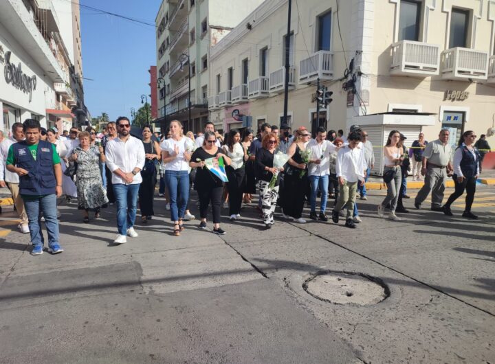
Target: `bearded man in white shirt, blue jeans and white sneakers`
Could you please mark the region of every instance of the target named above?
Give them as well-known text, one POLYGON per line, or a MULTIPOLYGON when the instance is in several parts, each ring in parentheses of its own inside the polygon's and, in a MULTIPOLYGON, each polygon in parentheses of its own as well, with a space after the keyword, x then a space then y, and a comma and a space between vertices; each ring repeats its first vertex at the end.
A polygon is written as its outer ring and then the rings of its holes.
POLYGON ((130 135, 131 122, 127 117, 119 117, 118 137, 107 143, 107 167, 112 172, 112 186, 117 202, 118 236, 115 244, 123 244, 126 236, 137 238, 134 221, 137 209, 137 192, 142 182, 141 170, 144 167, 144 146, 140 139, 130 135))

